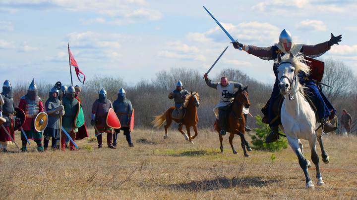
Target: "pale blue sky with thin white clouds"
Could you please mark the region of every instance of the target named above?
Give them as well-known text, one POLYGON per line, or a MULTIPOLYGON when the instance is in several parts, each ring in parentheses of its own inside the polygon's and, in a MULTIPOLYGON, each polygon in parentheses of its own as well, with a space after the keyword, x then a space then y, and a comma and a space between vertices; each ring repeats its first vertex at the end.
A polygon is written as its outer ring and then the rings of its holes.
MULTIPOLYGON (((136 84, 171 68, 203 76, 229 45, 210 77, 234 68, 273 84, 273 61, 234 49, 203 6, 247 45, 271 46, 283 29, 304 44, 342 34, 319 59, 357 72, 354 0, 0 0, 0 81, 70 84, 69 43, 86 81, 104 75, 136 84)), ((81 84, 74 68, 72 78, 81 84)))

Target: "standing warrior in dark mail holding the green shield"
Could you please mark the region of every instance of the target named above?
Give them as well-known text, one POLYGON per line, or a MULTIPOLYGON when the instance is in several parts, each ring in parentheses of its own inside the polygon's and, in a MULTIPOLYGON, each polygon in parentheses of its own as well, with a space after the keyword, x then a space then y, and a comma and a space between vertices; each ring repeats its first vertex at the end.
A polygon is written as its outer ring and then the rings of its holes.
MULTIPOLYGON (((67 89, 67 93, 65 95, 65 98, 62 99, 62 105, 64 107, 64 115, 62 117, 62 126, 64 130, 69 134, 73 142, 75 141, 76 138, 76 133, 78 132, 78 128, 74 126, 74 120, 77 115, 78 109, 79 109, 79 103, 77 99, 74 98, 74 87, 69 86, 67 89)), ((62 151, 65 152, 65 141, 66 141, 67 135, 62 132, 61 134, 61 149, 62 151)), ((69 138, 68 138, 69 139, 69 138)), ((70 151, 79 151, 74 147, 72 141, 69 142, 69 150, 70 151)))

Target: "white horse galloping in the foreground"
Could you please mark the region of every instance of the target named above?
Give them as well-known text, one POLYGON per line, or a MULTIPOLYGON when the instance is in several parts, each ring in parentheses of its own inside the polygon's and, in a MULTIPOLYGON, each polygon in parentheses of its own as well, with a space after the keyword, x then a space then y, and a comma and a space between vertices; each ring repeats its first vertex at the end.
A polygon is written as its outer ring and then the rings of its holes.
POLYGON ((285 100, 281 108, 280 128, 284 131, 288 138, 289 145, 297 155, 300 167, 302 168, 306 178, 306 188, 315 189, 312 183, 307 168, 310 168, 311 163, 303 156, 302 143, 299 139, 308 140, 311 150, 311 160, 316 166, 317 185, 324 185, 319 168, 319 157, 316 153, 316 140, 321 147, 321 157, 324 163, 329 162, 329 156, 326 154, 321 140, 322 132, 315 133, 317 127, 315 113, 303 95, 303 87, 298 81, 297 74, 304 72, 310 73, 309 67, 304 64, 303 56, 294 56, 292 53, 286 54, 283 58, 278 56, 278 78, 280 93, 285 100))

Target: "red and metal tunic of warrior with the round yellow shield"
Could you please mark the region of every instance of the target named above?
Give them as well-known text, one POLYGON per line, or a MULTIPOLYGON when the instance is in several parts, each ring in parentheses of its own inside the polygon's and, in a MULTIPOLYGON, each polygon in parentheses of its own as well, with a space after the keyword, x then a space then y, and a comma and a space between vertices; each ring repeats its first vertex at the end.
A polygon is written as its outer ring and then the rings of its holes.
MULTIPOLYGON (((42 140, 42 132, 37 132, 34 127, 36 116, 44 111, 41 98, 36 96, 36 100, 32 100, 30 99, 30 96, 26 94, 25 96, 21 97, 18 107, 23 110, 26 115, 26 120, 22 128, 24 129, 27 138, 32 140, 42 140)), ((21 140, 26 140, 22 131, 21 140)))

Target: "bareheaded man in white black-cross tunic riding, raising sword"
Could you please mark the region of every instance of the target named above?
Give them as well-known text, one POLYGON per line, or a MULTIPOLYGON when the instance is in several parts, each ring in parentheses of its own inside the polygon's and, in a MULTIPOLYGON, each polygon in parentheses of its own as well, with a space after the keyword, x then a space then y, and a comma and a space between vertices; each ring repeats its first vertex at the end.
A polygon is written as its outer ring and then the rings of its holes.
POLYGON ((213 112, 216 115, 219 126, 222 128, 220 135, 226 135, 226 108, 228 108, 227 106, 229 106, 234 100, 232 93, 235 91, 235 88, 243 88, 243 85, 239 82, 229 82, 227 77, 222 77, 221 82, 212 82, 208 79, 207 73, 204 75, 204 78, 209 87, 218 90, 220 101, 213 109, 213 112))

